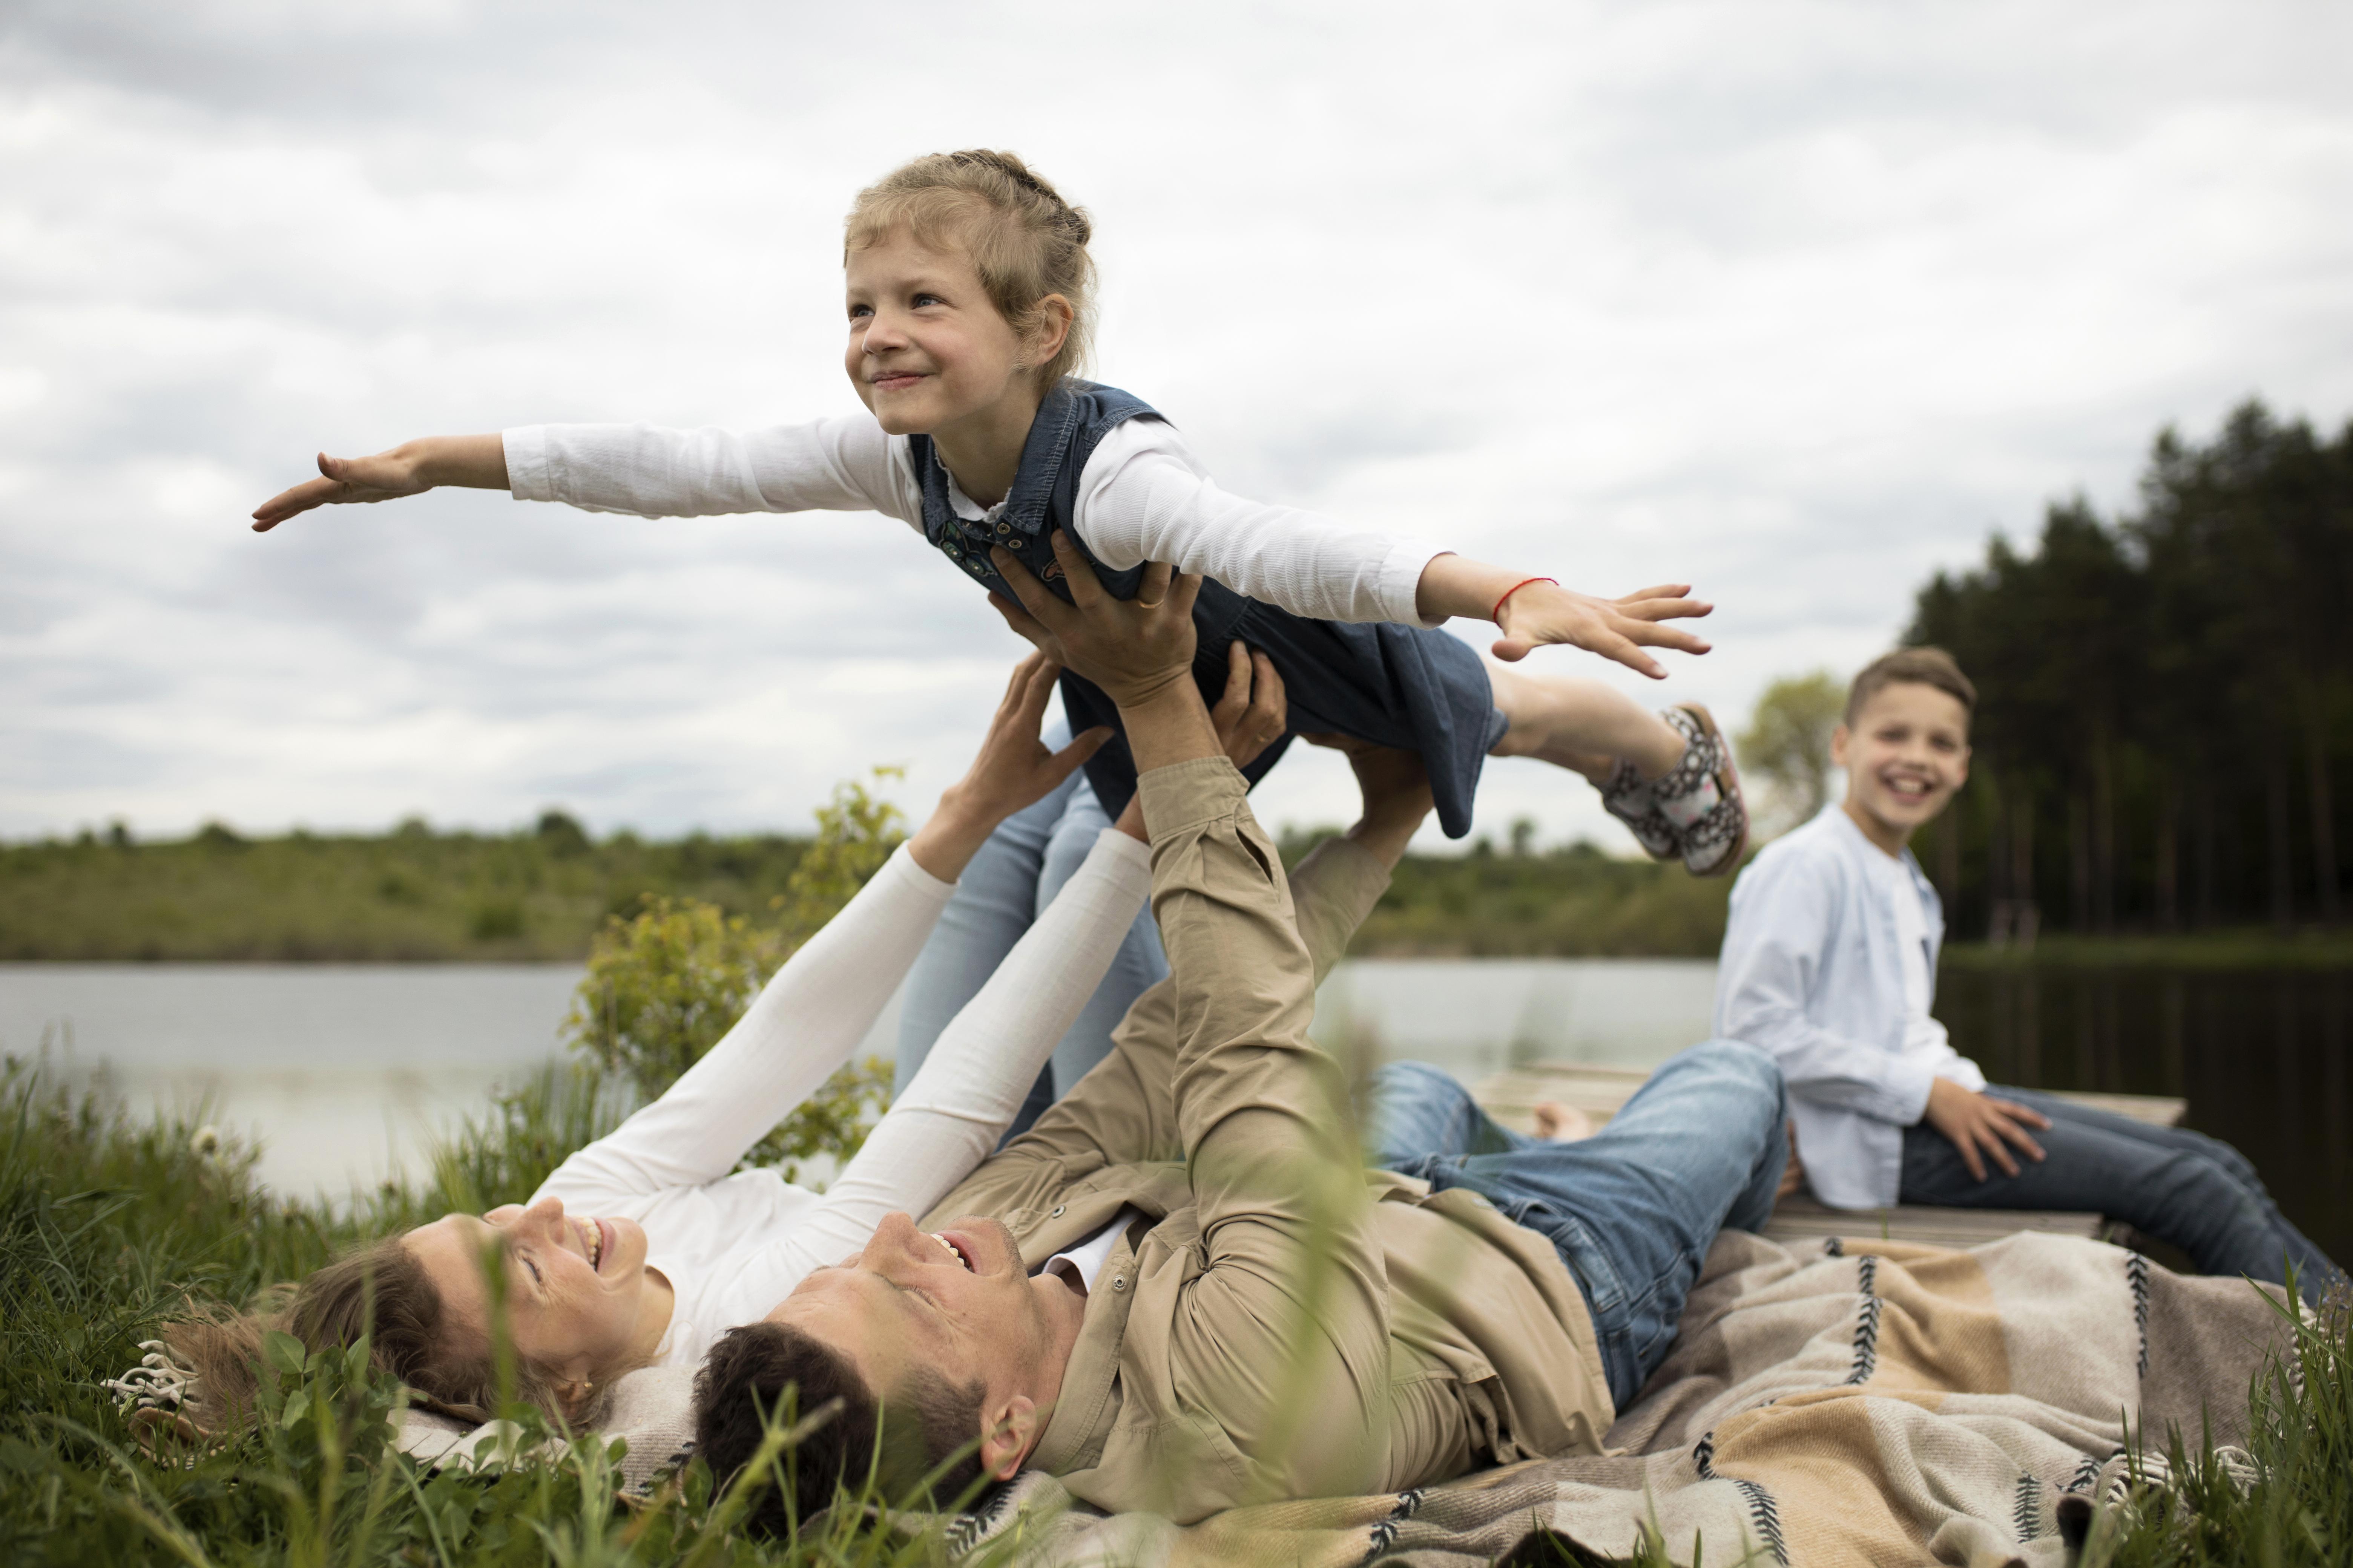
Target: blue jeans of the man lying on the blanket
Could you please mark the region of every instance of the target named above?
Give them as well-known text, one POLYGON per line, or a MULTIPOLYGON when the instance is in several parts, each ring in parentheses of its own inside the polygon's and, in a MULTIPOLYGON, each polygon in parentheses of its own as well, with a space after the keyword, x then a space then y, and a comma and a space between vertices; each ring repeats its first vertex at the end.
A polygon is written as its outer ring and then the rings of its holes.
POLYGON ((1369 1164, 1471 1187, 1551 1239, 1586 1293, 1619 1410, 1666 1361, 1715 1232, 1765 1225, 1788 1164, 1781 1070, 1737 1039, 1675 1056, 1579 1143, 1497 1126, 1424 1063, 1381 1067, 1365 1121, 1369 1164))

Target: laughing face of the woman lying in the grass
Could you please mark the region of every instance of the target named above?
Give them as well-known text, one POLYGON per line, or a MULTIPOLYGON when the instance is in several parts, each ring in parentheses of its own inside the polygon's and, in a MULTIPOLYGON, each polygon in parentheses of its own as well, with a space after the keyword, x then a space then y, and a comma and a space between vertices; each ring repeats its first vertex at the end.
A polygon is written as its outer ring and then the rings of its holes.
POLYGON ((482 1218, 442 1215, 405 1241, 433 1276, 452 1326, 482 1340, 489 1335, 482 1255, 496 1246, 515 1354, 558 1382, 593 1382, 638 1342, 647 1281, 645 1229, 635 1220, 567 1215, 562 1199, 544 1197, 482 1218))

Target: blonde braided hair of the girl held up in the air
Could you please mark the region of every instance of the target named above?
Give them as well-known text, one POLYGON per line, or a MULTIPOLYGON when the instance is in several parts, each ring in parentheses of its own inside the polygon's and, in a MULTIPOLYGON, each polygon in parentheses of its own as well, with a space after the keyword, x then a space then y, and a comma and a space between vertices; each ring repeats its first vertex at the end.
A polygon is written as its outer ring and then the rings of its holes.
POLYGON ((842 256, 908 230, 915 244, 958 244, 1012 329, 1028 336, 1049 294, 1071 301, 1071 331, 1061 350, 1038 367, 1038 388, 1052 390, 1078 374, 1094 343, 1094 223, 1085 207, 1061 200, 1054 186, 1012 153, 932 153, 892 169, 859 190, 842 235, 842 256))

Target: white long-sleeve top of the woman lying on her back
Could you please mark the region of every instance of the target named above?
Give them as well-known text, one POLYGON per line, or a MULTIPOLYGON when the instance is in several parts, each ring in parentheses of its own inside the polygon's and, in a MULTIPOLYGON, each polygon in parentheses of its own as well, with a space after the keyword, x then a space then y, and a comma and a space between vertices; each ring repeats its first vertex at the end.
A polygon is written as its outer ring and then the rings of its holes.
POLYGON ((701 1361, 802 1274, 866 1246, 882 1215, 922 1213, 969 1175, 1111 969, 1151 879, 1151 851, 1106 827, 826 1194, 734 1164, 849 1060, 955 891, 904 846, 668 1093, 558 1166, 541 1197, 645 1227, 647 1267, 678 1295, 656 1366, 701 1361))

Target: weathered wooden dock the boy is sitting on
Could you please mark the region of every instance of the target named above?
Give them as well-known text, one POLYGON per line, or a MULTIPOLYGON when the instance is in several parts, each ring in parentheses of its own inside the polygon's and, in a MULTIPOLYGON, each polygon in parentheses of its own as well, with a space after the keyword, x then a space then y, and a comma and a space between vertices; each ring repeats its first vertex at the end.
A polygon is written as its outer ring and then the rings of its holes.
MULTIPOLYGON (((1489 1117, 1515 1133, 1537 1131, 1537 1103, 1574 1105, 1595 1126, 1609 1121, 1649 1079, 1645 1067, 1591 1067, 1584 1063, 1527 1063, 1508 1067, 1473 1095, 1489 1117)), ((2179 1126, 2188 1100, 2162 1095, 2101 1095, 2042 1091, 2094 1110, 2132 1117, 2151 1126, 2179 1126)), ((1922 1241, 1929 1246, 1977 1246, 2019 1229, 2047 1229, 2061 1237, 2097 1237, 2120 1241, 2122 1227, 2097 1213, 2026 1211, 2026 1208, 1824 1208, 1809 1197, 1795 1197, 1774 1208, 1765 1234, 1784 1246, 1821 1241, 1824 1237, 1868 1237, 1887 1241, 1922 1241)))

